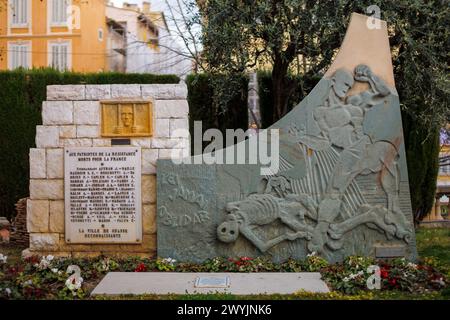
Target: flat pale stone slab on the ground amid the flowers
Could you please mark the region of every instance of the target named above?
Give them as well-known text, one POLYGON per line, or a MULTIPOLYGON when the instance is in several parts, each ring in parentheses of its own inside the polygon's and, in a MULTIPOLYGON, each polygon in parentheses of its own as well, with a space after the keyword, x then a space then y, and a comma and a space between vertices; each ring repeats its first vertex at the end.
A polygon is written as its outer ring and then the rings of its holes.
POLYGON ((180 273, 109 272, 91 295, 230 293, 292 294, 329 289, 318 272, 180 273))

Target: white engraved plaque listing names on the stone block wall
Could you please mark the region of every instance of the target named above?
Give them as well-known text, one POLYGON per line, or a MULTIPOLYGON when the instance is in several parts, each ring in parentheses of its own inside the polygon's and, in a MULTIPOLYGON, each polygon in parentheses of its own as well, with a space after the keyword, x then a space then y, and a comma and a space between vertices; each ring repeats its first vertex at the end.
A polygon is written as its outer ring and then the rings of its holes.
POLYGON ((67 243, 141 243, 139 147, 64 149, 67 243))

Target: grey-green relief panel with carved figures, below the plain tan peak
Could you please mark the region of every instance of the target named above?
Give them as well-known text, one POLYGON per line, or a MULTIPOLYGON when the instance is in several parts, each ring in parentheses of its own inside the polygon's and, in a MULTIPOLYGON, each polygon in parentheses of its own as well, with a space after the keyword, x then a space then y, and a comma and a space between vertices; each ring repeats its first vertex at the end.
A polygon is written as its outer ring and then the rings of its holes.
POLYGON ((168 230, 169 211, 160 207, 158 254, 200 262, 244 255, 283 261, 316 253, 335 262, 395 247, 416 258, 395 87, 369 64, 337 68, 271 128, 280 135, 275 174, 260 175, 258 165, 196 165, 208 179, 201 175, 189 189, 178 185, 168 192, 179 181, 195 180, 192 165, 158 161, 158 202, 171 202, 178 226, 168 230), (165 179, 168 172, 178 182, 165 179), (188 210, 190 203, 196 208, 188 210), (208 218, 198 224, 201 232, 187 231, 202 221, 202 211, 208 218))

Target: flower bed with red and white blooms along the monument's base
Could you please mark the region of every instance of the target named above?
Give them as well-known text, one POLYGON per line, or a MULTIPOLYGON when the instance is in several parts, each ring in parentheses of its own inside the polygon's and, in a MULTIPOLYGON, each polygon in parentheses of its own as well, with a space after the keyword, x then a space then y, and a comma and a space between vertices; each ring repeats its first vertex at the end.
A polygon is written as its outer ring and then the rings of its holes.
MULTIPOLYGON (((404 259, 375 261, 348 257, 328 264, 312 254, 307 259, 275 264, 268 258, 221 258, 203 264, 177 263, 174 259, 62 259, 30 257, 9 263, 0 254, 0 299, 83 299, 109 271, 127 272, 320 272, 336 294, 370 296, 371 292, 437 293, 449 288, 449 269, 436 259, 417 264, 404 259), (377 269, 376 267, 379 267, 377 269), (379 270, 379 289, 368 283, 379 270)), ((376 283, 376 281, 374 281, 376 283)))

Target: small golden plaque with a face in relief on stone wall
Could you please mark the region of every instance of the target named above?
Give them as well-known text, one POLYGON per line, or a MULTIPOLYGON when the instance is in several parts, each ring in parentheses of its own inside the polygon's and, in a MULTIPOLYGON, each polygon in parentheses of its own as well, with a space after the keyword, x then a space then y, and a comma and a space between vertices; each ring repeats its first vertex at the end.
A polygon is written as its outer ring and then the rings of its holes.
POLYGON ((102 137, 150 137, 151 101, 101 101, 102 137))

